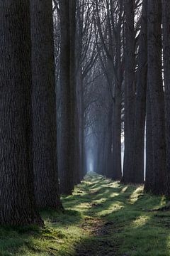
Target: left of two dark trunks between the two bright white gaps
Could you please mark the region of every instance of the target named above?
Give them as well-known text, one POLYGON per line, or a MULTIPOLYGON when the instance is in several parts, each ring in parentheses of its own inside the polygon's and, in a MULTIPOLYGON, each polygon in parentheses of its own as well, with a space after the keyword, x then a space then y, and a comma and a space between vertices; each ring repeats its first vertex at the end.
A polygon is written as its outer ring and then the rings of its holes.
POLYGON ((135 29, 134 1, 125 0, 125 154, 124 183, 132 182, 135 117, 135 29))

